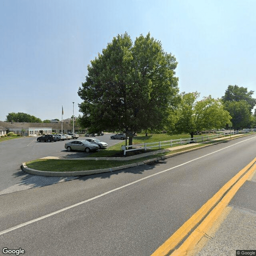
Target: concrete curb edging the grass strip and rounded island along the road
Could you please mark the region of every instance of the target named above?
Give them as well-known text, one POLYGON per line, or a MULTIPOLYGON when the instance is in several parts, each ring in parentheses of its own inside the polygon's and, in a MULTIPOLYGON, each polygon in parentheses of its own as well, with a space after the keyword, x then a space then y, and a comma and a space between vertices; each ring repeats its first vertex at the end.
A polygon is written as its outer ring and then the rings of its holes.
MULTIPOLYGON (((251 135, 251 134, 248 134, 248 135, 251 135)), ((246 134, 246 136, 247 136, 247 134, 246 134)), ((241 137, 239 137, 239 138, 241 138, 241 137)), ((229 140, 234 140, 234 139, 236 139, 236 137, 230 138, 229 140)), ((177 156, 177 155, 180 155, 180 154, 185 154, 185 153, 190 152, 190 151, 198 150, 200 148, 213 146, 213 145, 220 144, 220 143, 223 143, 223 141, 215 142, 213 144, 203 145, 203 146, 198 147, 198 148, 190 148, 190 149, 184 150, 182 152, 177 152, 177 153, 173 153, 173 154, 170 154, 170 155, 167 155, 167 156, 161 156, 161 157, 158 157, 158 158, 148 159, 148 160, 144 160, 144 161, 141 161, 141 162, 138 162, 138 163, 126 164, 124 166, 117 166, 117 167, 106 168, 106 169, 97 169, 97 170, 88 170, 88 171, 75 171, 75 172, 47 172, 47 171, 40 171, 40 170, 35 170, 35 169, 28 168, 28 166, 26 166, 26 163, 22 163, 21 169, 24 172, 27 172, 29 174, 40 175, 40 176, 50 176, 50 177, 84 176, 84 175, 91 175, 91 174, 98 174, 98 173, 103 173, 103 172, 112 172, 112 171, 122 170, 122 169, 130 168, 130 167, 134 167, 134 166, 148 164, 150 162, 158 162, 159 160, 164 160, 164 159, 167 159, 167 158, 170 158, 170 157, 173 157, 173 156, 177 156)))

